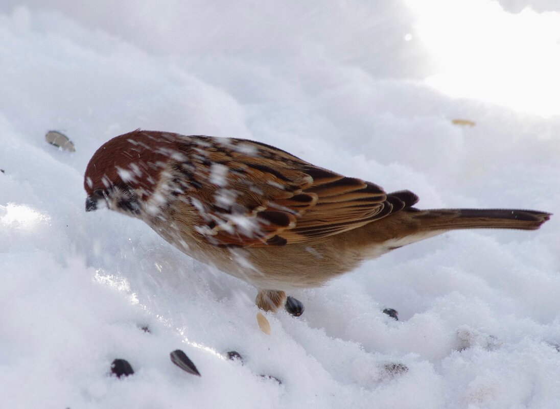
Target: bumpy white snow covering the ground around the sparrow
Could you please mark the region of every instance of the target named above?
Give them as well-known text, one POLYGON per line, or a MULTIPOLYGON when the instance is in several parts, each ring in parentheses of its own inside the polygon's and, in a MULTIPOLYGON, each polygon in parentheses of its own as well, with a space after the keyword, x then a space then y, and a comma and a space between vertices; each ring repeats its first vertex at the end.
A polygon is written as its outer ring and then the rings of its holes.
MULTIPOLYGON (((495 92, 437 91, 424 82, 440 66, 420 6, 399 1, 66 3, 0 3, 0 407, 560 406, 557 70, 503 68, 502 87, 523 102, 510 107, 495 92), (526 86, 536 80, 542 88, 526 86), (253 288, 137 220, 85 213, 88 159, 136 128, 259 140, 411 189, 422 208, 558 216, 536 232, 455 232, 396 250, 292 294, 306 312, 268 314, 265 335, 253 288), (46 144, 50 129, 76 152, 46 144), (171 364, 178 348, 202 377, 171 364), (230 350, 244 364, 225 359, 230 350), (111 377, 115 358, 136 373, 111 377)), ((523 16, 515 1, 455 3, 480 7, 478 33, 492 25, 485 16, 514 31, 523 16)), ((529 14, 543 30, 560 27, 550 3, 529 14)), ((558 53, 558 31, 543 33, 558 53)), ((478 55, 479 91, 492 91, 484 75, 500 50, 478 51, 498 40, 478 40, 458 55, 478 55)), ((512 55, 550 56, 543 44, 512 55)), ((449 82, 456 72, 444 68, 449 82)))

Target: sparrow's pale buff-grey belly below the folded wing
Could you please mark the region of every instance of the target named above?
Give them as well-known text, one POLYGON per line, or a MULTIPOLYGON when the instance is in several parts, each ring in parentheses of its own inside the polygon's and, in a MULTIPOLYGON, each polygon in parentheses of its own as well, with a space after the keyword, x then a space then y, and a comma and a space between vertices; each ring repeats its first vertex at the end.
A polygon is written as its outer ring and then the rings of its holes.
MULTIPOLYGON (((152 220, 153 223, 148 224, 186 255, 244 280, 259 290, 286 291, 321 286, 335 276, 356 269, 365 260, 442 233, 424 232, 403 238, 389 238, 389 234, 382 241, 375 242, 367 229, 381 227, 382 223, 377 222, 310 242, 231 248, 211 245, 206 239, 197 236, 194 229, 183 228, 179 232, 171 227, 173 224, 163 225, 161 220, 152 220), (366 230, 359 232, 361 229, 366 230)), ((188 223, 180 225, 188 227, 188 223)))

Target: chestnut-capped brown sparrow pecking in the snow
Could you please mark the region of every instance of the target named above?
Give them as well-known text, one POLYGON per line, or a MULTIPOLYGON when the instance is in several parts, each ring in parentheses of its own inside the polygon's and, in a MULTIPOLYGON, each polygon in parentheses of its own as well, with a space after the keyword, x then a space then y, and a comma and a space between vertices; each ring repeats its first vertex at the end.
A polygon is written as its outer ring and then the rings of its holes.
POLYGON ((290 153, 245 139, 136 130, 106 142, 85 173, 100 203, 146 222, 196 260, 254 285, 276 311, 286 290, 320 286, 364 260, 454 229, 535 230, 550 213, 413 207, 290 153))

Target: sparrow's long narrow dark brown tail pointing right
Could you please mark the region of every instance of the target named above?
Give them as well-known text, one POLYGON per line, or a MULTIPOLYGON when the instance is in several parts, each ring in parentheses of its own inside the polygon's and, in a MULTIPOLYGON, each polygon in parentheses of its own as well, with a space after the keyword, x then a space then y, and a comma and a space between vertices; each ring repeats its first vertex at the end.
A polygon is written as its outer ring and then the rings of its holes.
POLYGON ((455 229, 520 229, 536 230, 551 213, 516 209, 432 209, 415 212, 422 230, 455 229))

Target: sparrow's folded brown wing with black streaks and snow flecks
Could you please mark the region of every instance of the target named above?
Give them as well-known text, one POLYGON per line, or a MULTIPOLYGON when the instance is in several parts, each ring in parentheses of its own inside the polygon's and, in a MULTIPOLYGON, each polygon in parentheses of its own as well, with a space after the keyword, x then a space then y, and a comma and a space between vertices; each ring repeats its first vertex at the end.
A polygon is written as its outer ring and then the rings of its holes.
MULTIPOLYGON (((190 137, 178 161, 181 195, 198 209, 199 233, 218 246, 286 245, 352 230, 404 201, 377 185, 316 167, 269 145, 190 137)), ((401 194, 402 195, 402 194, 401 194)))

